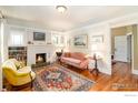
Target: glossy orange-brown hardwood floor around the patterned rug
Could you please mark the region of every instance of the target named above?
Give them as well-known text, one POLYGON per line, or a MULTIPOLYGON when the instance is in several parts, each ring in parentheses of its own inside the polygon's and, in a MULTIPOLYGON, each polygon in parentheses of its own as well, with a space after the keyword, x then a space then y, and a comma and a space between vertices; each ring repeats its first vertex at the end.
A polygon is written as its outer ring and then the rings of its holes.
MULTIPOLYGON (((138 91, 138 75, 131 74, 130 65, 117 62, 112 66, 112 74, 99 73, 95 75, 88 70, 79 70, 72 66, 68 69, 78 72, 96 82, 90 91, 138 91)), ((20 91, 31 91, 30 87, 20 91)))

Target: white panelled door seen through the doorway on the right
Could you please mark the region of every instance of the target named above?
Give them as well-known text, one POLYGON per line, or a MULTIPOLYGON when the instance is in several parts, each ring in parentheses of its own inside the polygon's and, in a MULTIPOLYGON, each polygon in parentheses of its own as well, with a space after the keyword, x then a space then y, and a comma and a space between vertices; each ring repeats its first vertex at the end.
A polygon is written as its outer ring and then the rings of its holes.
POLYGON ((127 35, 115 37, 115 60, 127 62, 127 35))

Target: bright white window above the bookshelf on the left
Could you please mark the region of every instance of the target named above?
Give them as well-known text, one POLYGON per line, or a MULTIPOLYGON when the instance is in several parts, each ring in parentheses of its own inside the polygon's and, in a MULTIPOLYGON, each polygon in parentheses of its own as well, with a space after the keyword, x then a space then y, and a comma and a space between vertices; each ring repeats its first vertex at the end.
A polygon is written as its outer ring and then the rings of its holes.
POLYGON ((23 34, 22 29, 10 29, 10 45, 23 45, 23 34))

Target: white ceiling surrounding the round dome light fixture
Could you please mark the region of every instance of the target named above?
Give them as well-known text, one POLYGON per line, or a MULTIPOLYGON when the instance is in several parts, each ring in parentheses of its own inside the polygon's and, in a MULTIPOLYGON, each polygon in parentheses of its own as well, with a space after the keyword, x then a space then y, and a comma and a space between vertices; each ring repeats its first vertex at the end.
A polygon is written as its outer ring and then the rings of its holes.
POLYGON ((138 7, 69 6, 59 13, 53 6, 2 6, 0 10, 10 18, 41 23, 52 30, 65 31, 138 12, 138 7))

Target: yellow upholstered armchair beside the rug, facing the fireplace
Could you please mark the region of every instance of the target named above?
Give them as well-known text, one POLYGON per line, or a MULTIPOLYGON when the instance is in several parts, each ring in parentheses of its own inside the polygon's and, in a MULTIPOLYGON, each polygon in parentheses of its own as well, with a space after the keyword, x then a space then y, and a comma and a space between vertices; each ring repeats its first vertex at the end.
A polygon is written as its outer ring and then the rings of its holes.
POLYGON ((34 80, 36 73, 30 66, 18 69, 19 62, 16 59, 9 59, 2 64, 4 78, 13 86, 27 84, 34 80))

